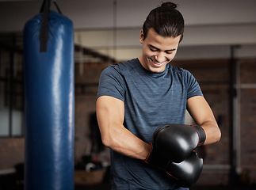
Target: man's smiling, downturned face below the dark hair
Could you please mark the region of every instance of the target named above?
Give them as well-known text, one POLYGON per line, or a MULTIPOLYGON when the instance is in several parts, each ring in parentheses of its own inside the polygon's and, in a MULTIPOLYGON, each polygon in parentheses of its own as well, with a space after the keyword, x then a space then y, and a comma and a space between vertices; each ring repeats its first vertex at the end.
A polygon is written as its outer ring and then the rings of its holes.
POLYGON ((181 36, 175 38, 160 36, 151 28, 147 32, 146 39, 143 40, 143 31, 141 31, 140 43, 143 44, 143 52, 139 56, 140 63, 147 70, 162 72, 166 64, 174 59, 180 39, 181 36))

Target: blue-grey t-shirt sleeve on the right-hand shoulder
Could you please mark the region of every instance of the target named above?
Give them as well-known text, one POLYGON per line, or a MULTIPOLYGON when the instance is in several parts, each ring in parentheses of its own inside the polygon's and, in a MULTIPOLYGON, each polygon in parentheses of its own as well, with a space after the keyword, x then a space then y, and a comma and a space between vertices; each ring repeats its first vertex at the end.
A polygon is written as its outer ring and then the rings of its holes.
POLYGON ((187 100, 190 97, 203 96, 201 88, 197 82, 197 79, 193 77, 188 70, 185 70, 185 80, 187 86, 187 100))

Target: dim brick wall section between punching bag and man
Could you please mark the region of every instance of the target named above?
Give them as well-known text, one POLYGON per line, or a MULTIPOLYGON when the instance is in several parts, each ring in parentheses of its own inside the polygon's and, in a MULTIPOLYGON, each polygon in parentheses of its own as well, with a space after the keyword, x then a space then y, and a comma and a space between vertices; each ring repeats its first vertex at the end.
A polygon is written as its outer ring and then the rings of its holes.
POLYGON ((110 63, 75 64, 75 165, 93 151, 90 120, 96 111, 98 80, 110 63))

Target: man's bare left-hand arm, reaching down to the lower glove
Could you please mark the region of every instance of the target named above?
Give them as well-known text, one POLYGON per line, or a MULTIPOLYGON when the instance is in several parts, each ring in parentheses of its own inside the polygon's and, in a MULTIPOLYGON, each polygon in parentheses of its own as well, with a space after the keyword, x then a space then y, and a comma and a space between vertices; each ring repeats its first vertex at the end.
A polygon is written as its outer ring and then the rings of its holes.
POLYGON ((96 102, 97 121, 105 146, 128 157, 144 160, 150 145, 133 135, 124 127, 124 102, 117 98, 102 96, 96 102))

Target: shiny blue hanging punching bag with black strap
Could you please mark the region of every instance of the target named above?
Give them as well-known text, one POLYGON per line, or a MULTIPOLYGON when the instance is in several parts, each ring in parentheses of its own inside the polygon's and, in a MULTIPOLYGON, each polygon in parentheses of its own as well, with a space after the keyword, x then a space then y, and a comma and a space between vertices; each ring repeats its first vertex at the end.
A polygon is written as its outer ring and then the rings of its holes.
POLYGON ((25 189, 74 189, 74 31, 50 10, 24 28, 25 189))

